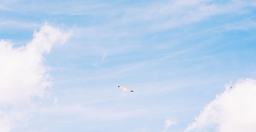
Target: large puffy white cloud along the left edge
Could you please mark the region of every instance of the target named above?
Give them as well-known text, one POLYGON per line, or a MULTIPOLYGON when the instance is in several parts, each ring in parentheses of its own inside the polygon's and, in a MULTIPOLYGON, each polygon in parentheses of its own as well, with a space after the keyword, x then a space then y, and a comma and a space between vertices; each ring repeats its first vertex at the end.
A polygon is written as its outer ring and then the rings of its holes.
POLYGON ((44 65, 44 55, 55 44, 67 41, 70 33, 45 25, 34 32, 26 46, 14 48, 9 40, 0 41, 0 131, 10 131, 17 121, 24 120, 24 106, 33 97, 44 97, 51 85, 49 68, 44 65))

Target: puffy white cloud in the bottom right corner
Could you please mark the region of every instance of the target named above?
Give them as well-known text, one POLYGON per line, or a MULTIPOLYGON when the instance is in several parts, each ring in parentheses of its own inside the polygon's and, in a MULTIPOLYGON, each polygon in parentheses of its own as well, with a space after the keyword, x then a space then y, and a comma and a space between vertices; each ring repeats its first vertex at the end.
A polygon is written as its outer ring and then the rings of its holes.
POLYGON ((256 80, 239 80, 216 96, 184 131, 255 131, 256 80))

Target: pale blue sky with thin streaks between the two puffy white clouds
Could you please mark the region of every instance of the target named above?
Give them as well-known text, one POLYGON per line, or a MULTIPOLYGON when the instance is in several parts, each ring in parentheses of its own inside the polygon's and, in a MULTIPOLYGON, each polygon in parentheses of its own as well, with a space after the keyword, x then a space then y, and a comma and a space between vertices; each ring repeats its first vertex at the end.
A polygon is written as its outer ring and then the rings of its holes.
POLYGON ((15 47, 45 23, 73 30, 45 56, 49 97, 12 131, 162 131, 168 118, 182 131, 226 83, 256 75, 255 1, 0 2, 0 38, 15 47), (233 9, 193 12, 207 5, 233 9))

